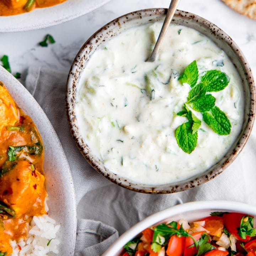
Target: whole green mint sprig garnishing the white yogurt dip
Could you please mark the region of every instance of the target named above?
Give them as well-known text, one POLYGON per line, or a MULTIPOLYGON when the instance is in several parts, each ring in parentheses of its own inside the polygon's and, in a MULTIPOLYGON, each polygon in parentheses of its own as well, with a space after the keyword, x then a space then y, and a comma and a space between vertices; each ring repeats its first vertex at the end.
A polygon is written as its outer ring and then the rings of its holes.
POLYGON ((175 138, 178 146, 190 154, 197 145, 197 130, 201 126, 198 119, 190 110, 201 112, 203 121, 219 135, 228 135, 231 132, 231 123, 226 114, 215 106, 215 97, 207 92, 218 92, 228 86, 230 78, 220 70, 209 70, 198 82, 198 68, 196 60, 190 63, 180 75, 182 84, 187 83, 191 86, 188 92, 187 102, 184 109, 177 113, 178 116, 187 117, 185 122, 177 127, 175 138))

